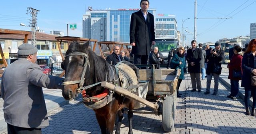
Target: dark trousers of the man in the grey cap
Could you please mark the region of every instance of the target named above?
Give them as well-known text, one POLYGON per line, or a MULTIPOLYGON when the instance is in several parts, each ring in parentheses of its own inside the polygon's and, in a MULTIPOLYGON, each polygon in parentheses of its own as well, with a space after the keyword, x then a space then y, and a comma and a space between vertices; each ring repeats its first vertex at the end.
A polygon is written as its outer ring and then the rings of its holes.
POLYGON ((8 134, 42 134, 41 128, 21 128, 7 124, 8 134))

